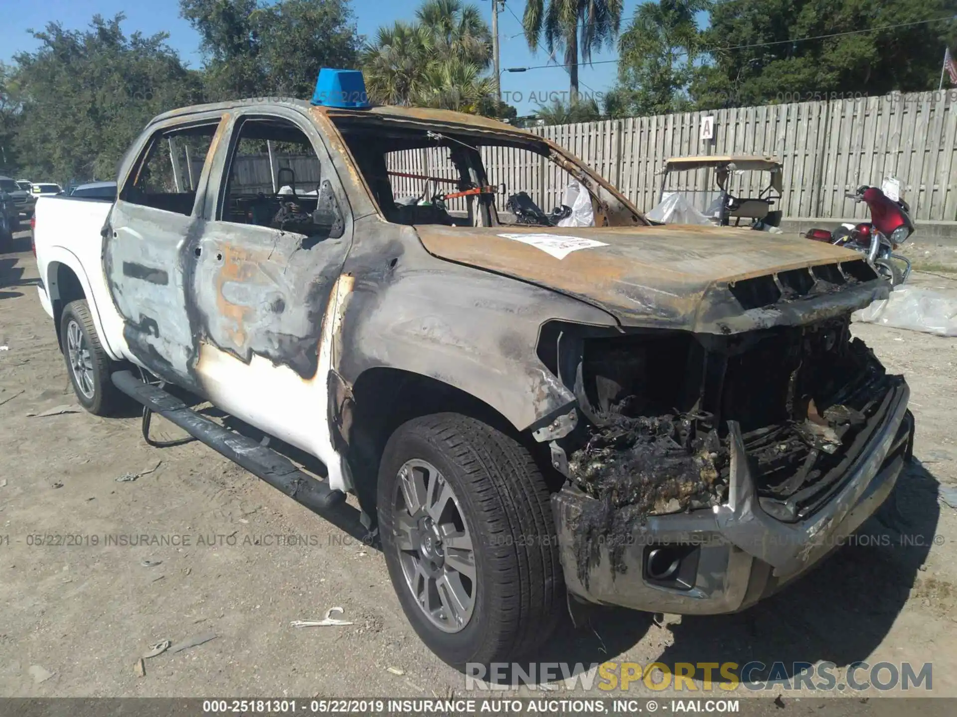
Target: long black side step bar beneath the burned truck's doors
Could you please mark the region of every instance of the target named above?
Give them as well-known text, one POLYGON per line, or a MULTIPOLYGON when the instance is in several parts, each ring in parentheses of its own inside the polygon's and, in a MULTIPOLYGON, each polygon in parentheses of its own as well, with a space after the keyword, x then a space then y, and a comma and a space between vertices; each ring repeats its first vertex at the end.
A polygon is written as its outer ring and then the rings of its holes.
POLYGON ((130 371, 117 371, 111 378, 116 387, 134 401, 178 425, 309 510, 341 526, 342 515, 336 509, 345 502, 342 490, 329 489, 275 450, 196 413, 186 403, 159 386, 144 383, 130 371))

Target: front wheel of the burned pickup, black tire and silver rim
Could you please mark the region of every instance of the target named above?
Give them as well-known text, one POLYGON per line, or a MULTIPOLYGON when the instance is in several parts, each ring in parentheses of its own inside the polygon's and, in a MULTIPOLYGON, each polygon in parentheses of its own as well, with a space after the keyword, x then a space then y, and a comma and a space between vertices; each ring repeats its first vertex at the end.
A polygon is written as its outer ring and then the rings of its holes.
POLYGON ((488 424, 439 413, 402 424, 379 468, 389 577, 443 661, 510 662, 550 635, 565 583, 545 480, 488 424))

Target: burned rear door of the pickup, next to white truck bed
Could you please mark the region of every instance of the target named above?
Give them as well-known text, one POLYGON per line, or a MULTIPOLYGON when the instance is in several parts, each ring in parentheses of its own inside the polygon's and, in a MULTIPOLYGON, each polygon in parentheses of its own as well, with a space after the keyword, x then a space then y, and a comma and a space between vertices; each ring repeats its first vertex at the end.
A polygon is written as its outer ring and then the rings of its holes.
MULTIPOLYGON (((130 151, 132 162, 118 187, 117 201, 103 227, 103 272, 110 297, 123 319, 127 358, 151 373, 201 393, 192 365, 192 321, 185 250, 202 231, 211 158, 229 114, 222 110, 169 118, 148 126, 130 151), (157 138, 170 131, 215 126, 189 214, 126 200, 157 138)), ((162 141, 162 139, 160 140, 162 141)))

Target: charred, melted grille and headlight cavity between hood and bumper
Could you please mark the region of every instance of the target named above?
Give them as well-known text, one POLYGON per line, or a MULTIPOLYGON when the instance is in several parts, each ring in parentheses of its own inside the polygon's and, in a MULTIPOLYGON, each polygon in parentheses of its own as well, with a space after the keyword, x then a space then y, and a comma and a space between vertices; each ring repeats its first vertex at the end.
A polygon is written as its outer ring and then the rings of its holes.
POLYGON ((728 422, 762 509, 786 522, 810 515, 839 488, 899 380, 849 324, 560 337, 554 358, 586 421, 558 445, 568 478, 596 499, 582 527, 607 539, 648 515, 725 502, 728 422))

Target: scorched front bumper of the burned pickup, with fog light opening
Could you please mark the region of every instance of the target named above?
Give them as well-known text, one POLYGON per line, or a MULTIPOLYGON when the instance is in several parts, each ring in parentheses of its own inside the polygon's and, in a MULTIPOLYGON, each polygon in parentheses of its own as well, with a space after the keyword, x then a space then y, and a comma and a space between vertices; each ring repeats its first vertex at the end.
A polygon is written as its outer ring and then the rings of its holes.
POLYGON ((912 435, 908 395, 903 380, 888 392, 833 494, 797 522, 762 510, 733 423, 728 499, 712 510, 648 516, 583 550, 581 518, 595 499, 567 486, 551 500, 568 590, 590 602, 689 615, 735 612, 770 595, 848 542, 890 494, 912 435))

